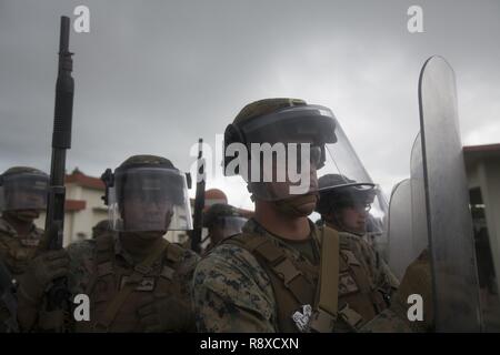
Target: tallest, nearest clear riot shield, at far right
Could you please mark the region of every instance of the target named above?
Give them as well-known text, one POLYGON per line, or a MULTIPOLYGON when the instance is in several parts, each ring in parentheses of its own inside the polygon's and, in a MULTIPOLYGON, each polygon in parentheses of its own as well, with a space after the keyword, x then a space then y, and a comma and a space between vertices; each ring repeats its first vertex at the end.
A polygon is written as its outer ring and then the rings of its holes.
POLYGON ((479 332, 479 287, 454 73, 432 57, 419 79, 420 133, 437 332, 479 332))

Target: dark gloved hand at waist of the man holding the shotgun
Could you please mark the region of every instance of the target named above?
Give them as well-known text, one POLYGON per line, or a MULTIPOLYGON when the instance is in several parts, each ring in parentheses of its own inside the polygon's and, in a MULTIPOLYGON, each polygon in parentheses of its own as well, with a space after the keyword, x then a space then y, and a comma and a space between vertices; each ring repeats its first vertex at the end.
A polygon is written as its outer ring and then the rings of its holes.
POLYGON ((194 332, 194 317, 188 302, 174 296, 144 295, 138 306, 139 320, 147 333, 194 332))

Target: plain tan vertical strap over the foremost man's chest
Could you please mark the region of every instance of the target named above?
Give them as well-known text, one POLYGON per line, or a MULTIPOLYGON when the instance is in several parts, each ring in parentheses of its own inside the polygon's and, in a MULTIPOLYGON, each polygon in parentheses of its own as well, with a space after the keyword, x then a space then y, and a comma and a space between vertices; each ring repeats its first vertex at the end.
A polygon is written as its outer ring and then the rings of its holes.
POLYGON ((331 332, 339 302, 339 234, 332 229, 321 230, 319 300, 309 326, 316 332, 331 332))

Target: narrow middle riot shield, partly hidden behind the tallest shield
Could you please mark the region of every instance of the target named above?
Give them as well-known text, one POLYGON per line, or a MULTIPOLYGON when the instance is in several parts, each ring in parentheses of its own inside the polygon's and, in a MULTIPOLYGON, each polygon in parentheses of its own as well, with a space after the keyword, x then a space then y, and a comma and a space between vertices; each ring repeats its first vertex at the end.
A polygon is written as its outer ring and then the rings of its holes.
POLYGON ((422 140, 417 134, 410 158, 411 184, 411 258, 417 258, 429 246, 427 234, 426 189, 423 184, 422 140))

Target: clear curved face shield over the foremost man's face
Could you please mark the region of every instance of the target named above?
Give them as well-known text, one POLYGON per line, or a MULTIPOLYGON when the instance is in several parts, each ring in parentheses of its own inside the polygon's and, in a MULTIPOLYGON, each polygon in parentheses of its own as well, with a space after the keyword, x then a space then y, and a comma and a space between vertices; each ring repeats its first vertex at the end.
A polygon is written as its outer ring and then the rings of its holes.
MULTIPOLYGON (((260 200, 277 201, 317 190, 316 171, 323 165, 324 143, 337 141, 333 113, 324 106, 300 105, 239 125, 244 152, 229 144, 238 173, 260 200)), ((228 146, 226 153, 228 154, 228 146)), ((234 174, 228 164, 226 175, 234 174)), ((234 169, 236 170, 236 169, 234 169)))

